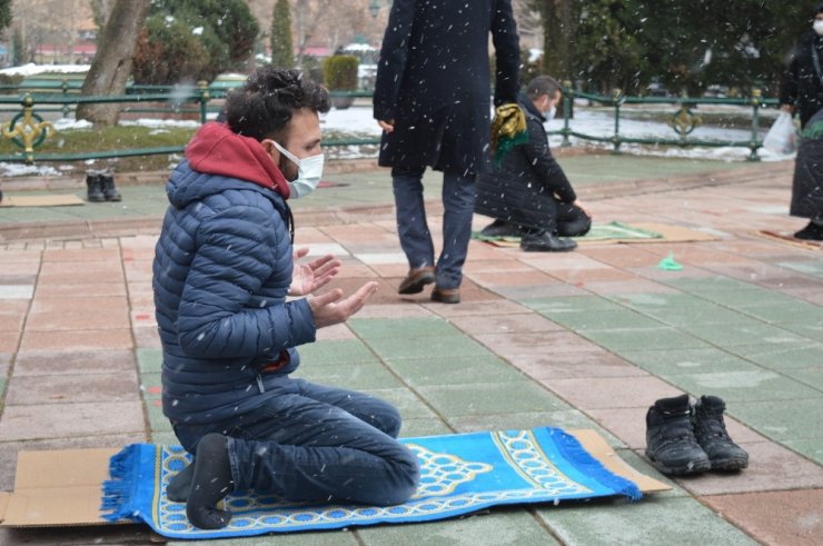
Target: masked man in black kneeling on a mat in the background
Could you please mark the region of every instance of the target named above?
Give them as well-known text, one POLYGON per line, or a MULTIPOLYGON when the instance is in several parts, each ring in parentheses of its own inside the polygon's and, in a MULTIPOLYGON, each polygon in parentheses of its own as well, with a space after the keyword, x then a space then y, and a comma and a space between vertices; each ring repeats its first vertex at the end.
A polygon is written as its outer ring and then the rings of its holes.
POLYGON ((477 177, 475 211, 495 218, 480 235, 519 236, 527 251, 567 251, 571 239, 592 227, 592 218, 577 201, 572 185, 552 156, 544 125, 563 98, 561 85, 538 76, 520 93, 528 140, 503 155, 499 167, 477 177))

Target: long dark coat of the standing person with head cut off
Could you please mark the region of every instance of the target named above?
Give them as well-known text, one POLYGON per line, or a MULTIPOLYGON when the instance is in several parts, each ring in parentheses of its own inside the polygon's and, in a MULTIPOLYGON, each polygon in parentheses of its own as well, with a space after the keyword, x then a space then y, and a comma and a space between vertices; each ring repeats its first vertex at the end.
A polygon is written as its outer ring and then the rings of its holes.
POLYGON ((510 0, 395 0, 383 40, 374 116, 394 120, 379 165, 426 166, 474 176, 489 132, 488 36, 495 46, 495 103, 517 96, 519 41, 510 0))

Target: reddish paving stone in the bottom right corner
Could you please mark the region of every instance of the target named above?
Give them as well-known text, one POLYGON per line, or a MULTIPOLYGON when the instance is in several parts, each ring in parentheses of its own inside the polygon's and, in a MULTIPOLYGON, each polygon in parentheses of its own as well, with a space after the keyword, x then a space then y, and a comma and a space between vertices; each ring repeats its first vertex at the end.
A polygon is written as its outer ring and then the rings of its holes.
POLYGON ((812 546, 823 536, 823 489, 704 497, 705 503, 763 544, 812 546))

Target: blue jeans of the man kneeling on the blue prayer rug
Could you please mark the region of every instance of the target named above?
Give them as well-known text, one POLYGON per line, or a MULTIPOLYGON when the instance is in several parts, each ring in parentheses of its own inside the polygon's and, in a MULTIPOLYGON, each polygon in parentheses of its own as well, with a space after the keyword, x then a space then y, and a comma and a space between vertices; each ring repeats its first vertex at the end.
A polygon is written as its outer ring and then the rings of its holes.
POLYGON ((190 453, 209 433, 228 436, 236 490, 379 506, 416 492, 417 457, 396 439, 400 416, 391 405, 289 377, 275 391, 254 413, 207 426, 178 423, 175 434, 190 453))

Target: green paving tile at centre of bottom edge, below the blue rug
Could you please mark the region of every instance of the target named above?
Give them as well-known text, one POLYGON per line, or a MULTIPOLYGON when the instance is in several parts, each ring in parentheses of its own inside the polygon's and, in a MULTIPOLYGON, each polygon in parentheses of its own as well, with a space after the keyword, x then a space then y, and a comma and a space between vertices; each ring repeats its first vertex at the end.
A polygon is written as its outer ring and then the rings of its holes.
POLYGON ((357 529, 357 535, 365 546, 412 544, 549 546, 558 544, 534 516, 522 507, 494 508, 488 515, 445 522, 361 527, 357 529))

